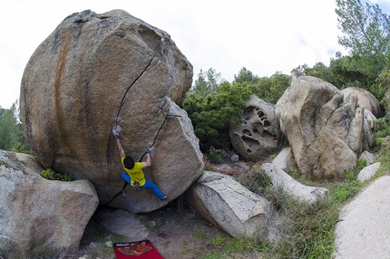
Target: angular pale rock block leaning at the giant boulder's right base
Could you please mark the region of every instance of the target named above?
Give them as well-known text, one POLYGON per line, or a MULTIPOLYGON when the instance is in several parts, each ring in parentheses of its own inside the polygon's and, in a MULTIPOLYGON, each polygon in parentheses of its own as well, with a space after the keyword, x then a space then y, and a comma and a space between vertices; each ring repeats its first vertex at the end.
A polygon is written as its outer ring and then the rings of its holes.
POLYGON ((269 202, 241 186, 233 177, 205 171, 184 196, 213 225, 233 237, 265 240, 269 202))

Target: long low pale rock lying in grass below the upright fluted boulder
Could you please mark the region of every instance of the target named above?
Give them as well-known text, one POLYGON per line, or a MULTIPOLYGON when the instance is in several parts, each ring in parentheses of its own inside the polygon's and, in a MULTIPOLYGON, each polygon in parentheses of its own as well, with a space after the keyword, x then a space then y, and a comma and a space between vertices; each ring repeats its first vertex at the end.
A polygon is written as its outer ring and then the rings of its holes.
POLYGON ((308 203, 315 202, 318 198, 325 197, 328 190, 323 187, 307 187, 290 177, 285 171, 275 165, 266 163, 261 169, 271 178, 272 186, 275 189, 283 189, 292 197, 308 203))

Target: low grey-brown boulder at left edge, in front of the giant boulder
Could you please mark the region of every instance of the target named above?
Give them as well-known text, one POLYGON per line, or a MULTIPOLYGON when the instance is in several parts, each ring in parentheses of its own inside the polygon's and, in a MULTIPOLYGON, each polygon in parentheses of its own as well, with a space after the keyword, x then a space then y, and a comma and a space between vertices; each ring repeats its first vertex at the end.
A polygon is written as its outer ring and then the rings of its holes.
POLYGON ((44 179, 28 155, 0 150, 0 254, 21 258, 44 247, 77 249, 99 200, 88 180, 44 179))

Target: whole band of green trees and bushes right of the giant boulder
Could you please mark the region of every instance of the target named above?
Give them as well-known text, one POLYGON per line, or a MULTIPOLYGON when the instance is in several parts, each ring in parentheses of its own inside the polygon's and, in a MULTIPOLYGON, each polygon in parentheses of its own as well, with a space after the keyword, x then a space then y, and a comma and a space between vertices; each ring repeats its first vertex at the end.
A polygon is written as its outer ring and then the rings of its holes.
MULTIPOLYGON (((389 110, 389 96, 385 97, 390 85, 389 16, 378 5, 362 5, 359 0, 336 0, 336 5, 338 27, 343 33, 338 42, 349 54, 343 56, 337 52, 328 66, 323 62, 313 67, 302 64, 293 71, 330 82, 340 90, 351 86, 366 89, 389 110)), ((220 73, 212 68, 200 71, 181 104, 192 120, 200 149, 205 154, 211 148, 229 153, 229 125, 239 123, 241 110, 250 95, 274 104, 291 82, 289 75, 276 72, 271 77, 259 77, 245 67, 234 76, 233 82, 220 78, 220 73)), ((388 128, 389 118, 384 120, 381 125, 388 128)))

